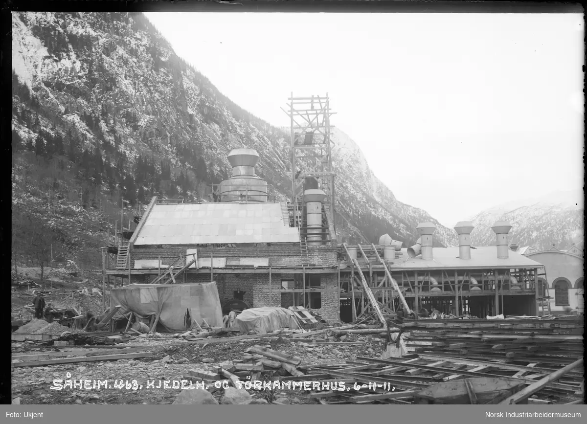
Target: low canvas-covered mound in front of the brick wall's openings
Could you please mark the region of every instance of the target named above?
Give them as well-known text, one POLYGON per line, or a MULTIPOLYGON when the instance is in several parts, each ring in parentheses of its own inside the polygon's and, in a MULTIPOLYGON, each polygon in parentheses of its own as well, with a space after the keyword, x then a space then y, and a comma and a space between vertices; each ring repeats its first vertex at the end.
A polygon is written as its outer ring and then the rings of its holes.
POLYGON ((234 320, 232 328, 238 328, 241 334, 255 330, 257 334, 270 333, 280 328, 298 328, 294 312, 286 308, 252 308, 245 309, 234 320))

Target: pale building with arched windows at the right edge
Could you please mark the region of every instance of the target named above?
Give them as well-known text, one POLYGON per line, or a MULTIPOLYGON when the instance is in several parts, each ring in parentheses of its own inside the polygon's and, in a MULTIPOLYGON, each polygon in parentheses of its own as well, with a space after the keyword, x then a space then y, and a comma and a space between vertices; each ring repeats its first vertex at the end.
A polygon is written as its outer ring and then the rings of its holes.
MULTIPOLYGON (((570 250, 570 249, 569 249, 570 250)), ((546 275, 538 278, 539 295, 545 289, 551 297, 551 312, 559 314, 565 307, 585 313, 585 289, 583 288, 583 257, 562 250, 544 250, 525 254, 544 265, 546 275)))

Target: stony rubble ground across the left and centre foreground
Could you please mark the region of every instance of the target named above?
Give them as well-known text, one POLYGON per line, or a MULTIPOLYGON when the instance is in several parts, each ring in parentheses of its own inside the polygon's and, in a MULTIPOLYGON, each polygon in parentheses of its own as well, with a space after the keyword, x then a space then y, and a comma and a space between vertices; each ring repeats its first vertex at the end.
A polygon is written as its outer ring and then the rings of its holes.
MULTIPOLYGON (((244 355, 245 349, 254 345, 270 347, 276 351, 287 352, 302 358, 302 365, 340 364, 345 359, 352 360, 356 356, 378 357, 384 349, 384 341, 372 336, 352 335, 347 341, 363 341, 361 345, 321 345, 300 339, 278 337, 274 339, 248 339, 214 344, 198 344, 178 341, 173 335, 161 335, 159 338, 139 338, 128 342, 132 346, 145 346, 146 351, 153 352, 150 358, 129 359, 109 362, 85 362, 78 364, 59 364, 50 366, 19 367, 12 371, 12 398, 20 398, 22 404, 68 404, 68 403, 107 403, 107 404, 140 404, 140 403, 173 403, 181 389, 164 389, 163 387, 147 388, 147 380, 181 381, 190 369, 213 371, 215 365, 224 361, 234 361, 244 355), (296 340, 296 341, 294 341, 296 340), (298 341, 299 340, 299 341, 298 341), (213 362, 205 363, 203 359, 213 358, 213 362), (72 379, 100 380, 107 379, 109 385, 114 380, 125 382, 136 380, 143 385, 139 390, 126 388, 108 389, 49 389, 53 379, 66 379, 66 372, 72 379)), ((13 354, 25 352, 25 343, 13 343, 13 354)), ((52 347, 44 351, 54 351, 52 347)), ((68 349, 75 354, 76 348, 68 349)), ((123 353, 124 349, 119 349, 123 353)), ((32 354, 32 351, 27 352, 32 354)), ((35 351, 36 353, 36 351, 35 351)), ((39 352, 41 353, 41 352, 39 352)), ((171 383, 170 383, 171 384, 171 383)), ((195 384, 195 383, 194 383, 195 384)), ((217 400, 224 390, 215 391, 217 400)), ((262 398, 263 393, 254 389, 249 391, 253 398, 262 398)), ((275 391, 274 398, 286 398, 289 403, 316 403, 315 399, 307 399, 303 391, 275 391)), ((285 402, 284 402, 285 403, 285 402)))

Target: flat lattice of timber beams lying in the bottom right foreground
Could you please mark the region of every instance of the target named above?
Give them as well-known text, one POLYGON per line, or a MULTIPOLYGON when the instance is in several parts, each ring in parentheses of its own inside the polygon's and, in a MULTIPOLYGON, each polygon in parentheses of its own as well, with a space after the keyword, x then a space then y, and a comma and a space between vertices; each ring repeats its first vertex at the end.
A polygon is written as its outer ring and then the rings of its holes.
POLYGON ((573 396, 582 398, 585 391, 582 365, 582 359, 576 358, 571 365, 555 369, 537 364, 523 366, 450 356, 408 355, 395 359, 357 357, 342 366, 312 365, 307 369, 314 380, 338 379, 351 389, 326 389, 309 395, 323 404, 418 403, 417 395, 424 389, 471 377, 519 383, 525 389, 516 403, 527 400, 538 404, 558 403, 559 399, 573 396), (529 398, 535 394, 538 398, 529 398))

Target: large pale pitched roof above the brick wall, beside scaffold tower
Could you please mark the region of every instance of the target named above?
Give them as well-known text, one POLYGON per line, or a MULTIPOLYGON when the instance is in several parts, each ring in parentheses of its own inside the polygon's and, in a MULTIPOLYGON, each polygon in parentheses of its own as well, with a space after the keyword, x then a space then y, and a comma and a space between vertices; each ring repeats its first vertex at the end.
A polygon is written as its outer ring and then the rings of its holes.
POLYGON ((299 233, 281 203, 154 204, 134 245, 212 243, 299 243, 299 233))

